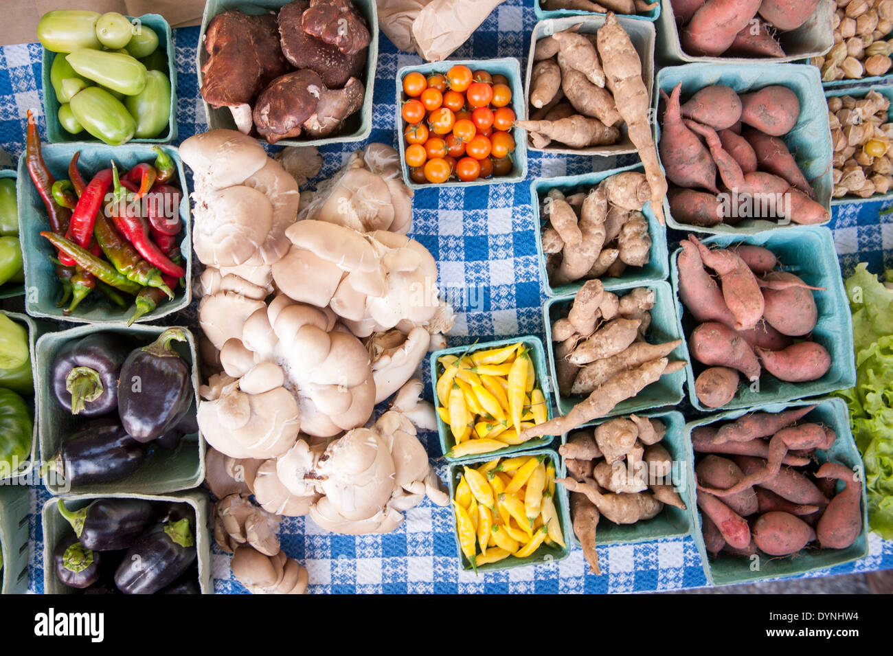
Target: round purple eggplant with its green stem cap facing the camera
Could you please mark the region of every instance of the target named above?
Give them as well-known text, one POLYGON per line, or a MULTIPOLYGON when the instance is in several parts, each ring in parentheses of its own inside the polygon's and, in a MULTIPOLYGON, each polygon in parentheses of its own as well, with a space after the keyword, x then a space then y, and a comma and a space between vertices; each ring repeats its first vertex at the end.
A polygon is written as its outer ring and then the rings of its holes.
POLYGON ((93 333, 56 355, 51 372, 56 400, 72 414, 100 417, 118 407, 118 375, 133 348, 116 333, 93 333))

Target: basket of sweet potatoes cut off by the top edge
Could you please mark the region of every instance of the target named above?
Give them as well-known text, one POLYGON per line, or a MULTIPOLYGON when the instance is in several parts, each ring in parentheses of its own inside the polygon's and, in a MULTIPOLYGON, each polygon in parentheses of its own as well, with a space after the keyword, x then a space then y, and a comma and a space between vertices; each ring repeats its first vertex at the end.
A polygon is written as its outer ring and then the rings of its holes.
POLYGON ((709 63, 747 63, 763 65, 769 62, 795 62, 799 59, 817 57, 827 53, 834 46, 831 34, 831 18, 837 5, 832 0, 823 0, 813 15, 803 25, 789 32, 779 32, 783 57, 702 57, 686 53, 680 44, 679 27, 672 11, 672 0, 661 0, 663 9, 657 17, 657 46, 662 63, 677 62, 709 62, 709 63))

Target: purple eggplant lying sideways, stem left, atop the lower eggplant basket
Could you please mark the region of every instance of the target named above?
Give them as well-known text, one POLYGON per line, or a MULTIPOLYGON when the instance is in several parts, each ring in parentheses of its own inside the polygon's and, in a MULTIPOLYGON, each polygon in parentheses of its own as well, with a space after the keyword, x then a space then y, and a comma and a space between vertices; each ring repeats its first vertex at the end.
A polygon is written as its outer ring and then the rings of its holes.
POLYGON ((62 499, 58 505, 80 544, 97 552, 129 549, 155 519, 145 499, 97 499, 79 511, 68 510, 62 499))

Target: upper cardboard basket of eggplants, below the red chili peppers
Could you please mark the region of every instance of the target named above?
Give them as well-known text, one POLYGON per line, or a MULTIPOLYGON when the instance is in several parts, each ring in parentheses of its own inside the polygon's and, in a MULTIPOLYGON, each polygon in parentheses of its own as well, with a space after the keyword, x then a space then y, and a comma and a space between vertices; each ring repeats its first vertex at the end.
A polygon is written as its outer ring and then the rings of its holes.
MULTIPOLYGON (((40 419, 38 436, 40 453, 43 461, 53 458, 54 453, 63 443, 63 439, 75 433, 87 419, 72 415, 61 406, 55 398, 52 388, 52 368, 56 355, 71 340, 91 335, 96 332, 117 333, 131 337, 136 345, 148 345, 161 335, 167 326, 135 325, 130 328, 79 326, 56 333, 48 333, 38 339, 38 358, 35 371, 38 372, 38 403, 40 419)), ((186 342, 171 342, 171 346, 179 353, 192 370, 194 403, 190 410, 196 412, 198 403, 198 354, 196 341, 188 328, 186 342)), ((152 446, 150 443, 149 446, 152 446)), ((51 494, 167 494, 188 490, 201 485, 204 480, 204 439, 198 433, 184 436, 177 449, 167 451, 152 446, 152 451, 135 472, 128 477, 112 483, 99 483, 88 486, 71 486, 55 475, 44 475, 44 486, 51 494)))

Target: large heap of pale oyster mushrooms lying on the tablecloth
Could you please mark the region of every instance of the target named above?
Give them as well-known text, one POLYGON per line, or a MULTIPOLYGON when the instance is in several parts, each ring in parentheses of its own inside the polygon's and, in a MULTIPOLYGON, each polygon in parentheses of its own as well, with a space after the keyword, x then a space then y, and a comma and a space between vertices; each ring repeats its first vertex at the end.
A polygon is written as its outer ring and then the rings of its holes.
POLYGON ((276 516, 385 533, 426 494, 447 504, 416 436, 436 422, 413 376, 453 313, 433 257, 405 237, 412 192, 393 148, 357 151, 313 193, 298 184, 319 171, 314 149, 273 160, 253 138, 212 130, 180 156, 204 265, 198 424, 213 447, 218 544, 253 592, 300 593, 306 573, 281 554, 276 516))

